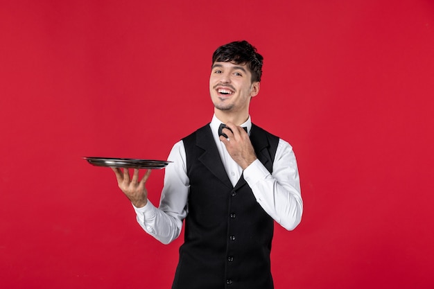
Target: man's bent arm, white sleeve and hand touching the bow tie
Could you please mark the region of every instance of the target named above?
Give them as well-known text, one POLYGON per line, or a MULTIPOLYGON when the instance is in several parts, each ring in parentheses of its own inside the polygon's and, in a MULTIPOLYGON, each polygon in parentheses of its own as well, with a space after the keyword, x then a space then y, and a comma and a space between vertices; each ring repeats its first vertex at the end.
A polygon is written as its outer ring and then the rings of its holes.
POLYGON ((302 220, 303 201, 293 148, 279 139, 272 175, 254 154, 248 134, 233 123, 223 129, 228 138, 220 137, 232 159, 243 168, 245 181, 257 202, 282 227, 295 229, 302 220))

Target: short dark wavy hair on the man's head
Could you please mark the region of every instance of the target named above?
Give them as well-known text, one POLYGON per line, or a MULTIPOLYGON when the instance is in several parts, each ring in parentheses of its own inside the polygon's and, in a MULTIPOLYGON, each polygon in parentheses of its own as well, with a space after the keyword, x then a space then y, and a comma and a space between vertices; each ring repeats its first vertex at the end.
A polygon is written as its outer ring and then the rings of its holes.
POLYGON ((218 47, 212 55, 211 65, 214 65, 214 62, 247 64, 250 73, 252 73, 252 82, 261 81, 263 57, 257 53, 257 49, 252 44, 245 40, 218 47))

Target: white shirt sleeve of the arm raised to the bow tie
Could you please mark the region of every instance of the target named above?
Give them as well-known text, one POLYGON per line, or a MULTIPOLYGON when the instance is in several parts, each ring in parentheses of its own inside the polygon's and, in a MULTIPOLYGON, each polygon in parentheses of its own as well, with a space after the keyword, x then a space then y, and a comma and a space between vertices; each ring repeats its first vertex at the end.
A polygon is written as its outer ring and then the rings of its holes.
POLYGON ((276 222, 287 230, 300 224, 303 213, 300 177, 289 143, 279 139, 272 174, 257 159, 245 168, 243 175, 257 202, 276 222))

